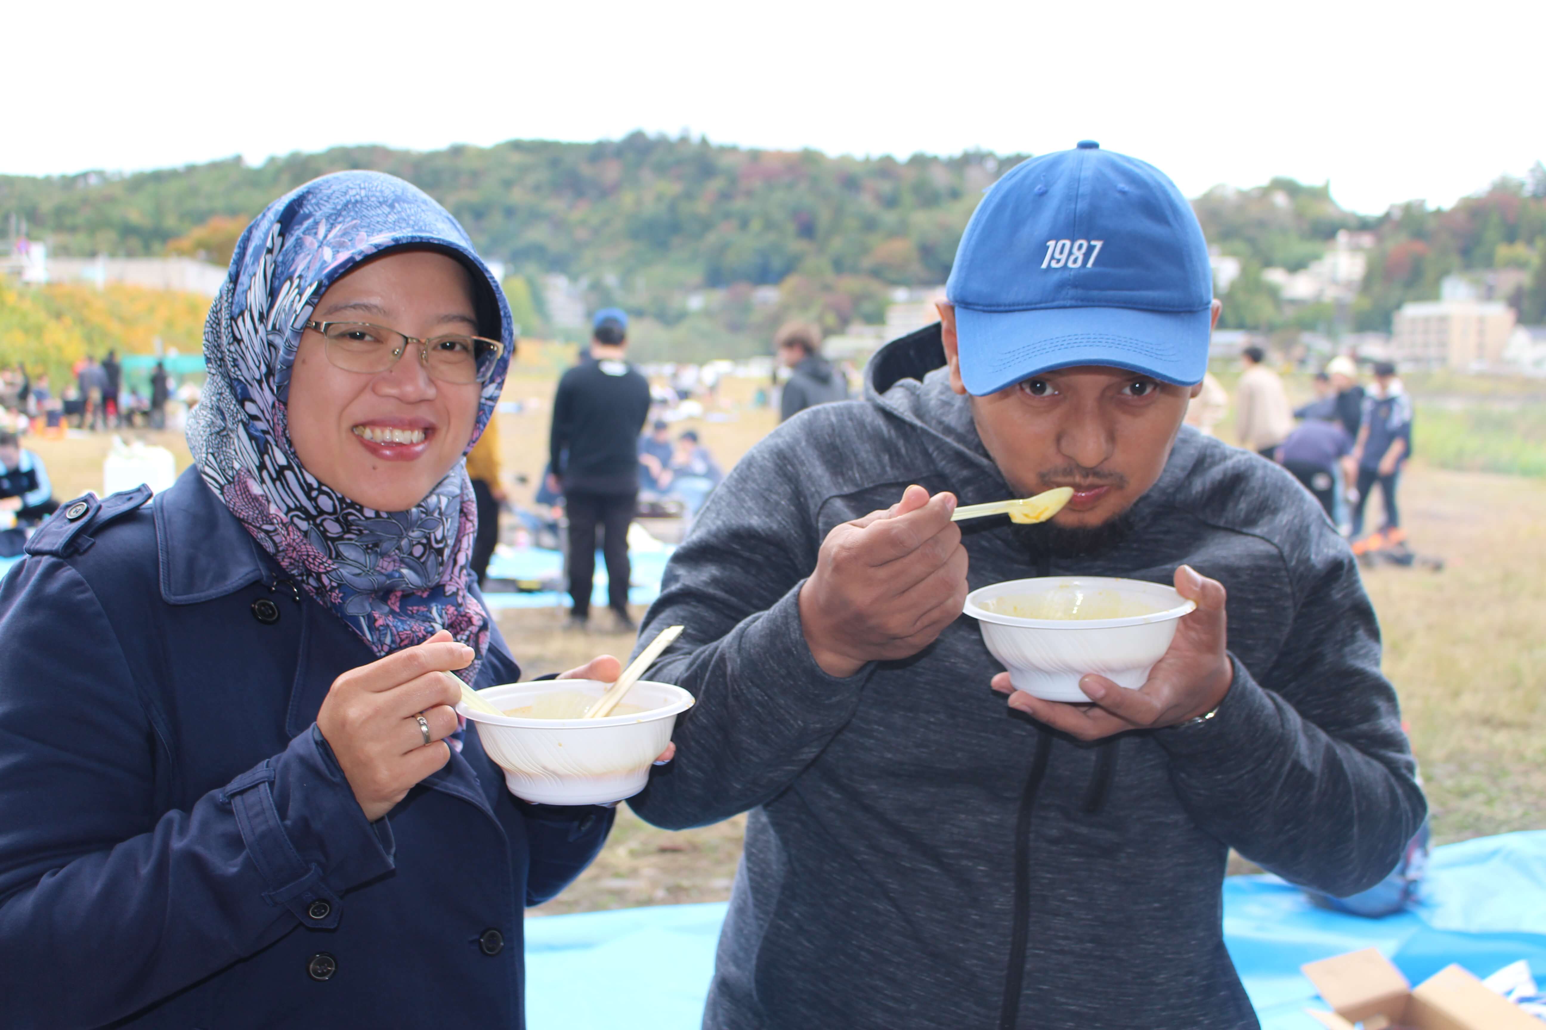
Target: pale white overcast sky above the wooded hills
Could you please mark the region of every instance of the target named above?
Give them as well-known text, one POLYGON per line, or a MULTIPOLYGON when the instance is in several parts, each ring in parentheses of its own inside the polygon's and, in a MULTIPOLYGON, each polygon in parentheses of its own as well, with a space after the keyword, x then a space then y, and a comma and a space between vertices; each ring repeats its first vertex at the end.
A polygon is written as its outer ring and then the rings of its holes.
POLYGON ((635 128, 897 156, 1091 137, 1189 196, 1285 174, 1377 213, 1546 158, 1541 0, 6 6, 15 174, 635 128))

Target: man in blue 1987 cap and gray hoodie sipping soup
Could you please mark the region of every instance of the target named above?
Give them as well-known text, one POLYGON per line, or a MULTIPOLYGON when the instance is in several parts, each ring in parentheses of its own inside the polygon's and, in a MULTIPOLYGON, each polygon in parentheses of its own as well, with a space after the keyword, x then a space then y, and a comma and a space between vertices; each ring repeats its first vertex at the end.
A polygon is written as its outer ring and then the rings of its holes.
POLYGON ((631 806, 750 811, 705 1027, 1255 1027, 1229 848, 1350 894, 1425 811, 1357 567, 1280 466, 1183 428, 1220 306, 1153 167, 1020 164, 946 295, 863 401, 741 460, 646 618, 686 627, 652 678, 697 706, 631 806), (1051 486, 1074 493, 1050 523, 951 522, 1051 486), (959 618, 1031 576, 1197 610, 1142 689, 1040 701, 959 618))

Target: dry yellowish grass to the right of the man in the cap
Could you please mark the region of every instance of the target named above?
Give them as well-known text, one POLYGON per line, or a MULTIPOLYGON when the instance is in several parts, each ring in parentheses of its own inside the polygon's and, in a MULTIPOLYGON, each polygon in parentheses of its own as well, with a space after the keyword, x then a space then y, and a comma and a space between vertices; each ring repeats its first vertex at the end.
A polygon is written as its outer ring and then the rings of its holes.
POLYGON ((1444 840, 1546 826, 1546 482, 1415 466, 1402 523, 1441 573, 1365 574, 1444 840))

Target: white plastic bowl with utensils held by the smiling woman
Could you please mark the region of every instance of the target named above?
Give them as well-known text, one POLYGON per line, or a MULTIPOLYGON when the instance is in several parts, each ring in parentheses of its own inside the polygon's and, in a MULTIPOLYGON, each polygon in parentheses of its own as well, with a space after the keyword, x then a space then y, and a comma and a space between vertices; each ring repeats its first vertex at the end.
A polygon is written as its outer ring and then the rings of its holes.
MULTIPOLYGON (((598 679, 535 679, 479 690, 496 709, 518 709, 555 690, 592 698, 606 692, 598 679)), ((649 766, 671 743, 676 717, 693 707, 693 695, 669 683, 640 679, 623 704, 645 709, 600 720, 533 720, 484 715, 458 704, 478 727, 484 750, 504 769, 510 794, 540 805, 601 805, 645 789, 649 766)))

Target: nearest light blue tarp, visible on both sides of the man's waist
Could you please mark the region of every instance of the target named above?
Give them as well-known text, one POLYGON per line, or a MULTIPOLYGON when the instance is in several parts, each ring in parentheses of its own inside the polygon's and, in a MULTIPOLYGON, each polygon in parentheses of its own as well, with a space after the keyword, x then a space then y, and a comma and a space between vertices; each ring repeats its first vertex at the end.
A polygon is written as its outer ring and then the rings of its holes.
MULTIPOLYGON (((1415 913, 1360 919, 1316 908, 1271 876, 1224 882, 1224 940, 1263 1030, 1319 1030, 1300 964, 1379 948, 1418 984, 1450 962, 1489 976, 1518 959, 1546 973, 1546 831, 1433 851, 1415 913)), ((532 1030, 694 1030, 724 905, 663 905, 526 920, 532 1030)))

